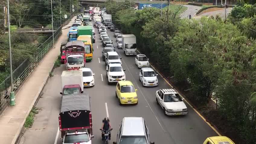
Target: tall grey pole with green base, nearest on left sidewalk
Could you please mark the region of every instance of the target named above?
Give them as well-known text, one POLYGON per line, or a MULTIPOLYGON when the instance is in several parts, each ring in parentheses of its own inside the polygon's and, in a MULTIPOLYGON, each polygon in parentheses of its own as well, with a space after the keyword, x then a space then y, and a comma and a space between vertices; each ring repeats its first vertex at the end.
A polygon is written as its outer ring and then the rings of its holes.
POLYGON ((9 7, 9 0, 7 0, 7 15, 8 15, 8 33, 9 33, 9 46, 10 46, 10 73, 11 73, 11 93, 10 93, 10 105, 15 105, 15 96, 13 92, 13 81, 12 81, 12 61, 11 61, 11 31, 10 31, 10 7, 9 7))

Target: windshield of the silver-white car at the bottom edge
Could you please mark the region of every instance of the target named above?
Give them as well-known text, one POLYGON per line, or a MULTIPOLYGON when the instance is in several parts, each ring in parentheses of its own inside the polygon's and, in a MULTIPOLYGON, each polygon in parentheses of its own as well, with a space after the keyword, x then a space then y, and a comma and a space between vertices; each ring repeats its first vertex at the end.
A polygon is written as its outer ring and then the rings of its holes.
POLYGON ((119 144, 147 144, 145 136, 121 136, 119 144))

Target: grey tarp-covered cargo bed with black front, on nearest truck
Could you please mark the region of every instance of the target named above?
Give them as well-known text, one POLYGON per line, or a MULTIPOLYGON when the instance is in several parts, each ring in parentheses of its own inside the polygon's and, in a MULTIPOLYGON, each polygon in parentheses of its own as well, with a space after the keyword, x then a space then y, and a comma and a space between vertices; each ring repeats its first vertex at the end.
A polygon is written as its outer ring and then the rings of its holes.
POLYGON ((91 104, 89 95, 63 95, 59 120, 59 128, 62 131, 91 128, 91 104))

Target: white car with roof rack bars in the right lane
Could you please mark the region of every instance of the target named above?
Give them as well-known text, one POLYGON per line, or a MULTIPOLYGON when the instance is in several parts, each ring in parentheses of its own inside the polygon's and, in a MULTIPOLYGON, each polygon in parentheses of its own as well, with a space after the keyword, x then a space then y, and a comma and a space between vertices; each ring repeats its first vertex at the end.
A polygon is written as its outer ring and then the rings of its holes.
POLYGON ((187 106, 183 102, 184 98, 171 89, 160 89, 155 92, 156 103, 163 108, 165 115, 186 115, 187 106))

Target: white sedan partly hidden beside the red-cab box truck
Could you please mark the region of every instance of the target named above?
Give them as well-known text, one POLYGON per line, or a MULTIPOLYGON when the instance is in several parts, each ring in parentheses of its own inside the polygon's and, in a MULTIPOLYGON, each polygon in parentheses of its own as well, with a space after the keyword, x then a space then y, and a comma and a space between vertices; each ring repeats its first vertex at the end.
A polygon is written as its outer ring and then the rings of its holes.
POLYGON ((94 86, 94 73, 90 68, 82 68, 84 87, 94 86))

